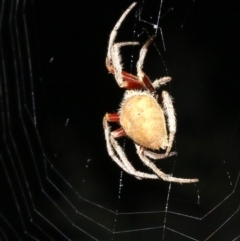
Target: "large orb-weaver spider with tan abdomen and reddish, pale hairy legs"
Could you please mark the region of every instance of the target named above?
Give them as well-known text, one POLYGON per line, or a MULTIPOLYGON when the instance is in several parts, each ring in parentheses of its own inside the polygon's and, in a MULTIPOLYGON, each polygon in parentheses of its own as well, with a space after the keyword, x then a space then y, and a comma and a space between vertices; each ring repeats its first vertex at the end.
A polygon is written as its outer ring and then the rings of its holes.
POLYGON ((115 43, 115 39, 123 20, 135 5, 136 3, 134 2, 125 10, 109 38, 106 67, 114 75, 119 87, 125 88, 126 92, 118 113, 106 113, 103 118, 107 151, 113 161, 125 172, 138 179, 163 179, 164 181, 177 183, 198 182, 198 179, 176 178, 165 174, 151 160, 164 159, 176 155, 176 152, 171 152, 176 132, 176 117, 172 98, 168 92, 162 91, 161 98, 157 94, 157 89, 171 81, 171 77, 163 77, 152 83, 142 70, 148 46, 153 41, 154 36, 140 50, 136 66, 137 76, 122 70, 120 48, 127 45, 138 45, 139 43, 115 43), (109 122, 117 122, 121 127, 111 132, 109 122), (166 126, 168 126, 168 131, 166 126), (137 171, 132 166, 123 148, 116 140, 123 136, 133 140, 138 156, 153 171, 152 174, 137 171), (155 152, 159 149, 166 151, 164 154, 155 152))

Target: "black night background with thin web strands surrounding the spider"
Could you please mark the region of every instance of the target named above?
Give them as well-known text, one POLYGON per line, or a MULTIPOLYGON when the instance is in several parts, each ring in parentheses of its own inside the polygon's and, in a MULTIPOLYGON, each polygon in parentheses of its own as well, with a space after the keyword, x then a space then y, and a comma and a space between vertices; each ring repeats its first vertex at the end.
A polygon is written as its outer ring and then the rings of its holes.
MULTIPOLYGON (((107 155, 102 117, 122 98, 104 59, 131 2, 0 3, 1 240, 238 240, 238 15, 226 1, 140 1, 117 41, 157 33, 144 70, 170 75, 178 156, 194 184, 142 180, 107 155), (99 11, 101 10, 101 11, 99 11), (100 100, 100 101, 99 101, 100 100)), ((232 2, 232 4, 234 4, 232 2)), ((139 49, 122 50, 135 72, 139 49)), ((137 169, 132 143, 123 141, 137 169)))

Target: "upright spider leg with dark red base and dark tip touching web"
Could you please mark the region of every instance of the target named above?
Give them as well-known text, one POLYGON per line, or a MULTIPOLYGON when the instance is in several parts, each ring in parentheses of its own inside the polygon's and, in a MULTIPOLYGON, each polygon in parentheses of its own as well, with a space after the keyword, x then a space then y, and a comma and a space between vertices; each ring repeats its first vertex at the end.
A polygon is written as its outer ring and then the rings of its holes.
POLYGON ((152 43, 153 39, 155 36, 151 37, 141 48, 140 54, 139 54, 139 59, 137 62, 137 76, 140 81, 145 85, 145 87, 152 93, 155 93, 155 88, 152 85, 152 82, 150 79, 147 77, 147 75, 143 72, 143 62, 146 57, 147 51, 148 51, 148 46, 152 43))

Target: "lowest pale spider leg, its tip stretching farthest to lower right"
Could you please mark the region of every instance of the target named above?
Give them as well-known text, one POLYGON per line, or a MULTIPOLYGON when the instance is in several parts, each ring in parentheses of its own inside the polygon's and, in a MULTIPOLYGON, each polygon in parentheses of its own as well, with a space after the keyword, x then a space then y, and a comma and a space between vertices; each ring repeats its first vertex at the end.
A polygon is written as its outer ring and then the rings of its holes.
POLYGON ((149 160, 141 151, 141 147, 137 144, 135 144, 137 149, 137 154, 139 155, 140 159, 143 161, 143 163, 153 170, 154 173, 156 173, 161 179, 167 182, 177 182, 177 183, 193 183, 198 182, 198 179, 185 179, 185 178, 176 178, 172 177, 171 175, 165 174, 164 172, 160 171, 154 163, 149 160))

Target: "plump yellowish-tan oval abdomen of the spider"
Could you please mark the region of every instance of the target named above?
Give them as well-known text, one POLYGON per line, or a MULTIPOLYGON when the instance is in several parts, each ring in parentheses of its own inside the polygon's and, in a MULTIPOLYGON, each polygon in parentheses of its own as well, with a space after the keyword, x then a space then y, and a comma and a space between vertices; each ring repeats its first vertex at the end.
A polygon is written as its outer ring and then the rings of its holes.
POLYGON ((133 141, 153 150, 166 148, 164 112, 153 96, 146 92, 129 91, 119 112, 120 124, 133 141))

